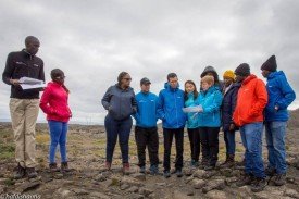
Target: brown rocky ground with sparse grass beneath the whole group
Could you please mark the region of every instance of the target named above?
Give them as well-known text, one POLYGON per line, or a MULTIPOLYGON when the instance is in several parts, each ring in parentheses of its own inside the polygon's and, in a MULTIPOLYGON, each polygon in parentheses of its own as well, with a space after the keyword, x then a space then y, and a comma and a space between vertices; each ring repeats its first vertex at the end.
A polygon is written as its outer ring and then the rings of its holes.
MULTIPOLYGON (((162 135, 161 128, 159 129, 162 135)), ((224 161, 225 147, 220 135, 220 162, 224 161)), ((238 161, 242 159, 244 149, 237 134, 238 161)), ((190 170, 190 150, 185 137, 185 175, 177 178, 172 175, 165 179, 162 175, 139 174, 136 157, 134 133, 132 133, 129 175, 121 172, 121 153, 116 147, 112 171, 104 171, 105 134, 102 126, 71 125, 67 149, 70 158, 68 173, 50 173, 48 170, 49 134, 47 125, 37 126, 37 161, 39 163, 36 179, 14 181, 12 170, 15 166, 14 144, 10 124, 0 124, 0 198, 15 194, 40 198, 299 198, 299 130, 289 128, 287 133, 287 154, 289 170, 287 184, 282 187, 269 186, 264 191, 253 194, 249 186, 236 187, 237 178, 242 174, 242 166, 216 169, 212 172, 190 170)), ((163 137, 160 137, 159 157, 163 157, 163 137)), ((173 149, 173 153, 175 150, 173 149)), ((174 161, 175 154, 172 156, 174 161)), ((266 150, 264 149, 264 158, 266 150)), ((58 162, 59 156, 57 156, 58 162)), ((161 162, 162 163, 162 162, 161 162)), ((162 164, 160 164, 162 171, 162 164)))

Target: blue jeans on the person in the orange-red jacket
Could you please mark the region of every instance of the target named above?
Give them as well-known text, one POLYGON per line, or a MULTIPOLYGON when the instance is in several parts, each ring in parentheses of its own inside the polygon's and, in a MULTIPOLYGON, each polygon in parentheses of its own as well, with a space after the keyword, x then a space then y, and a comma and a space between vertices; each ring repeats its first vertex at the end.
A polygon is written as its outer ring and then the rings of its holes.
POLYGON ((240 127, 245 151, 245 172, 265 178, 262 159, 263 123, 256 122, 240 127))

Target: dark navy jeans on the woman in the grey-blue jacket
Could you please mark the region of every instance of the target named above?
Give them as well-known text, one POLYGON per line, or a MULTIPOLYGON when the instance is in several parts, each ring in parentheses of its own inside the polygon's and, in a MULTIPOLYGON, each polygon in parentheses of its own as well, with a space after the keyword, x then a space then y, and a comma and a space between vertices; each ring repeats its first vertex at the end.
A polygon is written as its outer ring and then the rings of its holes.
POLYGON ((128 163, 128 139, 132 128, 132 117, 116 121, 110 115, 104 119, 104 127, 107 132, 107 148, 105 148, 105 160, 112 162, 114 148, 116 145, 117 136, 122 152, 123 163, 128 163))

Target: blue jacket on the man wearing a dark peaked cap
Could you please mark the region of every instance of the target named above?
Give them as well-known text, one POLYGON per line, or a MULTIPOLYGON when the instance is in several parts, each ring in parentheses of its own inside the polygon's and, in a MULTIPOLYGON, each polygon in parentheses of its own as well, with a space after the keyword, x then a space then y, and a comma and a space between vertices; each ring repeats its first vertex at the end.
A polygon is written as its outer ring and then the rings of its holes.
POLYGON ((157 108, 158 96, 152 92, 142 92, 136 95, 137 113, 134 115, 136 126, 139 127, 155 127, 157 126, 157 108))

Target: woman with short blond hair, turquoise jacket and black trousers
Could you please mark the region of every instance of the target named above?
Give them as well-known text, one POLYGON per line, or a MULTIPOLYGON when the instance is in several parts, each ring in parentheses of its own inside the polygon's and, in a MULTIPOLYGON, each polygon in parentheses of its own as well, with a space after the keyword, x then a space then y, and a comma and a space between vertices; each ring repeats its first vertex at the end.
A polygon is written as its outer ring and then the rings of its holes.
POLYGON ((215 169, 217 162, 220 107, 223 97, 219 87, 214 86, 213 76, 202 77, 201 88, 199 104, 202 107, 202 112, 198 113, 198 123, 202 146, 202 166, 209 171, 215 169))

